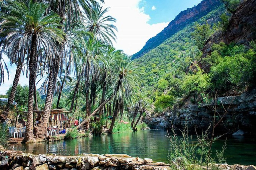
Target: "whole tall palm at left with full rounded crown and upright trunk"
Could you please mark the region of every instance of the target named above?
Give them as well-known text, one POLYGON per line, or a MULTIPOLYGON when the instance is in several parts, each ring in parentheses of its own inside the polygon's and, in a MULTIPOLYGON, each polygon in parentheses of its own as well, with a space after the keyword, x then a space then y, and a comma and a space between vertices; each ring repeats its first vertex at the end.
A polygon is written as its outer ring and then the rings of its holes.
POLYGON ((61 18, 54 13, 44 15, 47 6, 30 0, 26 5, 23 2, 7 1, 2 8, 9 11, 1 17, 5 20, 2 28, 9 30, 13 44, 19 44, 19 50, 26 52, 29 62, 29 94, 27 126, 24 142, 34 140, 33 135, 33 102, 37 52, 41 48, 48 55, 56 53, 55 41, 61 42, 61 30, 56 28, 61 18))

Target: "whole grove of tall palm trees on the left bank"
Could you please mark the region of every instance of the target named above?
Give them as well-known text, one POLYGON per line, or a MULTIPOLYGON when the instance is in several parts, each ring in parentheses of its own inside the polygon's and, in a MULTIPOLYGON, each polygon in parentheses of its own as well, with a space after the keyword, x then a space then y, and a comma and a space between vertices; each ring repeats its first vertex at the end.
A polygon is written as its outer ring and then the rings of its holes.
MULTIPOLYGON (((101 119, 105 106, 112 103, 113 119, 109 129, 112 132, 119 111, 122 113, 139 91, 140 79, 130 57, 112 47, 117 28, 113 25, 116 20, 105 16, 108 9, 103 9, 95 0, 3 0, 0 5, 0 85, 7 69, 2 54, 17 65, 0 120, 7 118, 20 74, 26 73, 29 97, 24 142, 45 139, 53 96, 58 92, 58 108, 63 86, 72 75, 76 83, 70 110, 74 110, 78 95, 86 101, 87 119, 80 125, 89 127, 90 117, 96 113, 101 119), (39 124, 34 126, 33 111, 38 109, 36 78, 44 74, 47 75, 44 112, 39 124), (64 76, 59 79, 61 75, 64 76)), ((140 112, 141 117, 142 113, 147 113, 148 105, 141 101, 136 104, 136 115, 140 112)))

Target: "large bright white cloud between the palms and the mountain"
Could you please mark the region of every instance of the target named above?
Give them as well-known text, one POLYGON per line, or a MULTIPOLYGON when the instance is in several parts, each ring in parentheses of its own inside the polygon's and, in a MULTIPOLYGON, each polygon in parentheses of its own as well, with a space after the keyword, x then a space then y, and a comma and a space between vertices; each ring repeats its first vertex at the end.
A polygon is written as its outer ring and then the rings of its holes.
POLYGON ((108 14, 116 18, 118 28, 117 42, 113 45, 132 55, 138 52, 146 41, 161 32, 168 23, 150 25, 150 16, 139 8, 141 0, 108 0, 104 7, 110 7, 108 14))

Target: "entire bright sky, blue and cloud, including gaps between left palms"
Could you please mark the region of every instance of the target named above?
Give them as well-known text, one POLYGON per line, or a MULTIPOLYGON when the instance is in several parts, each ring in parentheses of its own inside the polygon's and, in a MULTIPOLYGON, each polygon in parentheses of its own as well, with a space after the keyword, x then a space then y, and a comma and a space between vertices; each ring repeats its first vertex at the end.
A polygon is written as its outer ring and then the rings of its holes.
MULTIPOLYGON (((201 0, 105 0, 103 7, 109 8, 107 14, 117 20, 117 40, 113 46, 128 55, 135 54, 181 11, 200 2, 201 0)), ((0 94, 5 94, 12 85, 16 71, 16 66, 10 66, 6 56, 3 58, 10 72, 10 79, 5 76, 4 83, 0 86, 0 94)), ((26 85, 28 79, 21 75, 19 83, 26 85)))

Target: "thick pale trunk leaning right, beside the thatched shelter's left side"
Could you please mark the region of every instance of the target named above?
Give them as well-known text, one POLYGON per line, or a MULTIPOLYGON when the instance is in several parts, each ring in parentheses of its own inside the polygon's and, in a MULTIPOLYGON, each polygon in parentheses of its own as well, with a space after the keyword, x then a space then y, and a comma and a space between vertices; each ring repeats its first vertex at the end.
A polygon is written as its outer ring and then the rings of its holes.
POLYGON ((48 121, 50 118, 50 111, 51 111, 51 97, 52 97, 52 89, 53 89, 53 74, 54 74, 55 62, 56 60, 53 59, 52 65, 50 67, 48 87, 47 87, 42 119, 39 120, 39 123, 34 128, 34 134, 37 139, 45 139, 47 135, 47 125, 48 125, 48 121))

